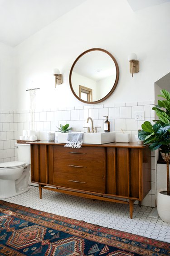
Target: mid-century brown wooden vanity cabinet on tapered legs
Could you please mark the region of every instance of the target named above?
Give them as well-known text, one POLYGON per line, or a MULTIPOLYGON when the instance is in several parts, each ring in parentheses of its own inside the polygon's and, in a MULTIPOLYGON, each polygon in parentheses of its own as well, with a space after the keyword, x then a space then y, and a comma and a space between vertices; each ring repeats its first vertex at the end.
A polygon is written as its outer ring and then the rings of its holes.
MULTIPOLYGON (((89 199, 129 204, 151 190, 151 151, 137 143, 83 144, 31 143, 31 179, 42 189, 89 199)), ((114 205, 113 205, 114 207, 114 205)))

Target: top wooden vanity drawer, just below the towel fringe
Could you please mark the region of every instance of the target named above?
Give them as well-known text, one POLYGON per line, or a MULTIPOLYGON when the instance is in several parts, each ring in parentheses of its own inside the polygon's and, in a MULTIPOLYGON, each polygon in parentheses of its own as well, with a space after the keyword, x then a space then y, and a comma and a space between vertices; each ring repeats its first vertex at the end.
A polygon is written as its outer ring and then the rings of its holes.
POLYGON ((85 159, 85 160, 105 160, 105 148, 82 147, 66 148, 64 145, 53 146, 54 158, 85 159))

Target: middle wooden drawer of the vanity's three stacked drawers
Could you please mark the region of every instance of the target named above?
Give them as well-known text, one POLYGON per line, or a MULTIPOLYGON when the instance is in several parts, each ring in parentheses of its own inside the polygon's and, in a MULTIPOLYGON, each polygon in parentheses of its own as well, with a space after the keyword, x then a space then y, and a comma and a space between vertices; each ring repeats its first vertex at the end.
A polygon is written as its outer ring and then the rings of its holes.
POLYGON ((59 172, 105 177, 105 163, 103 161, 56 158, 53 164, 55 175, 59 172))

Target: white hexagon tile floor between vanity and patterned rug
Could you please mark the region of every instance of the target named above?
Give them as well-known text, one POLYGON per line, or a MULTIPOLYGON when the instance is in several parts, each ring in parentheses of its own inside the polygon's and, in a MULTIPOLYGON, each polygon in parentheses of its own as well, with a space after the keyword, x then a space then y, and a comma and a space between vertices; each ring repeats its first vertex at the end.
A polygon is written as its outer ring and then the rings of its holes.
POLYGON ((28 192, 5 201, 170 243, 170 224, 159 217, 151 217, 151 207, 134 205, 131 220, 128 205, 84 199, 45 189, 42 199, 39 199, 39 188, 34 186, 29 186, 28 192))

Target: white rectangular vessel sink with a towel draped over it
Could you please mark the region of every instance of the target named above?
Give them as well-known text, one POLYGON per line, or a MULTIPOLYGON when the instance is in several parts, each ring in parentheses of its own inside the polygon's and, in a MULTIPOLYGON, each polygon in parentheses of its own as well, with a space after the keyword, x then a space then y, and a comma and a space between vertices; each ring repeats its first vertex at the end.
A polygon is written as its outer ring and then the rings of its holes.
MULTIPOLYGON (((58 143, 67 142, 68 133, 58 133, 58 143)), ((115 141, 115 133, 84 133, 83 144, 105 144, 115 141)))

